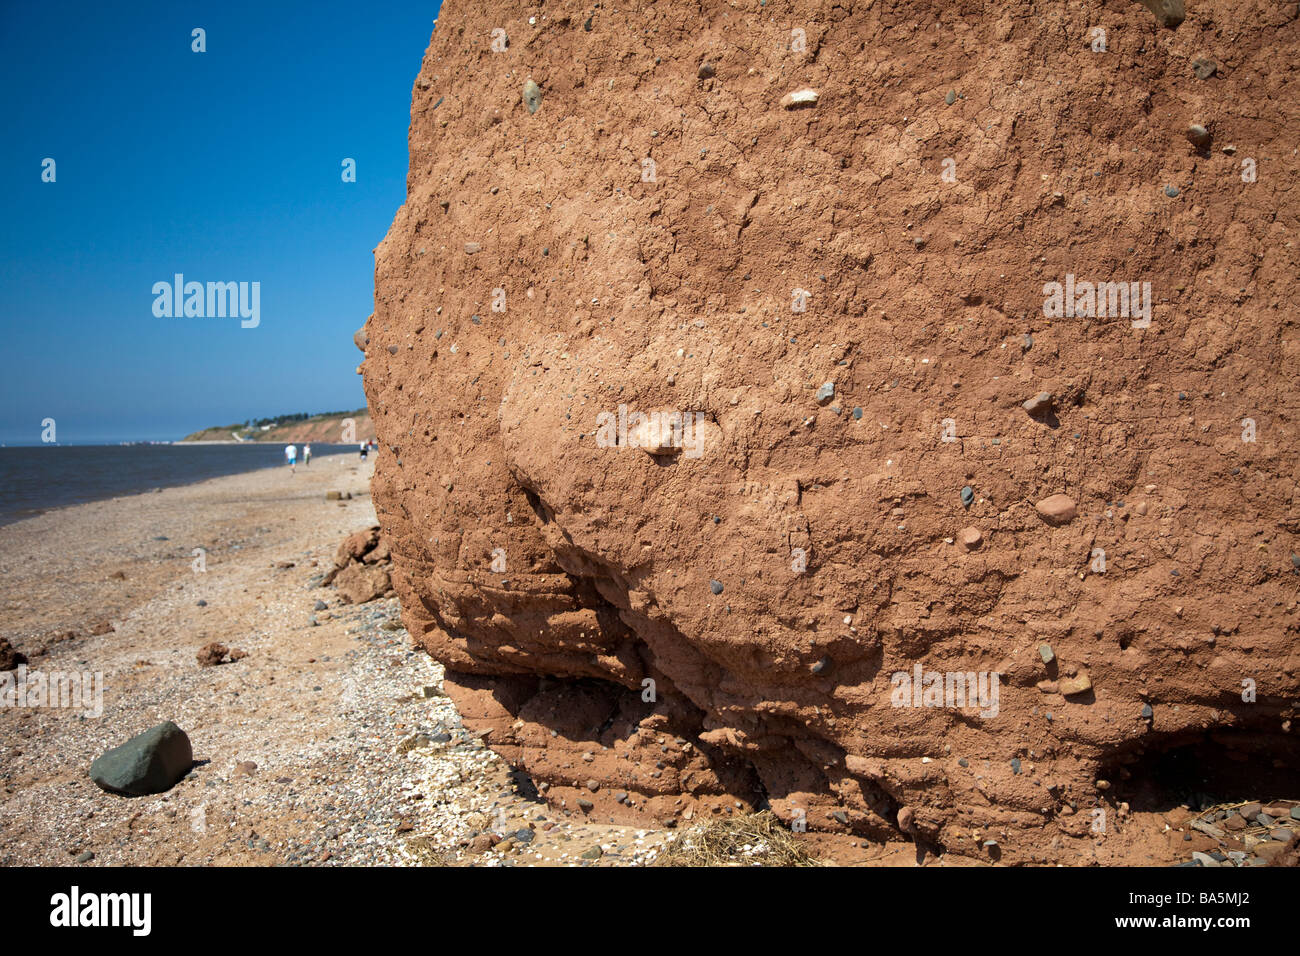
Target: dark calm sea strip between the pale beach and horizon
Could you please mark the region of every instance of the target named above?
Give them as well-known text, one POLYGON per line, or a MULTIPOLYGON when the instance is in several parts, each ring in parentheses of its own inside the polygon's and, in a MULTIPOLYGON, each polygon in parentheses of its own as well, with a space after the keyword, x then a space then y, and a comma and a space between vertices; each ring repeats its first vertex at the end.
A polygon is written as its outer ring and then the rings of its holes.
MULTIPOLYGON (((302 444, 299 442, 299 447, 302 444)), ((312 442, 312 459, 356 445, 312 442)), ((39 445, 0 447, 0 524, 52 507, 283 466, 283 445, 39 445)), ((302 467, 302 451, 298 466, 302 467)))

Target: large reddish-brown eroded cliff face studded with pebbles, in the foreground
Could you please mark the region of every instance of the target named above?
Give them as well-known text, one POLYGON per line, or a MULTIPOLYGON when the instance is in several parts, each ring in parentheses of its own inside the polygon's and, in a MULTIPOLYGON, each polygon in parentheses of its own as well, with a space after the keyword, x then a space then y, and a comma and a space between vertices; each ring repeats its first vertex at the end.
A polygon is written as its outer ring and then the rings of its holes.
POLYGON ((447 0, 373 493, 549 800, 1017 861, 1295 796, 1300 34, 1186 16, 447 0))

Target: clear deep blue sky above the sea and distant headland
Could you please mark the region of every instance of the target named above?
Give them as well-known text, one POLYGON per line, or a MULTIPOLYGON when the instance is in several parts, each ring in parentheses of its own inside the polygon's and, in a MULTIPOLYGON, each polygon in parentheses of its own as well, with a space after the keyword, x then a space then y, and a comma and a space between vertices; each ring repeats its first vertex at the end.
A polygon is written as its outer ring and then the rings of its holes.
POLYGON ((437 16, 0 0, 0 442, 38 442, 46 418, 60 442, 117 441, 363 406, 351 333, 437 16), (260 282, 260 325, 156 317, 177 272, 260 282))

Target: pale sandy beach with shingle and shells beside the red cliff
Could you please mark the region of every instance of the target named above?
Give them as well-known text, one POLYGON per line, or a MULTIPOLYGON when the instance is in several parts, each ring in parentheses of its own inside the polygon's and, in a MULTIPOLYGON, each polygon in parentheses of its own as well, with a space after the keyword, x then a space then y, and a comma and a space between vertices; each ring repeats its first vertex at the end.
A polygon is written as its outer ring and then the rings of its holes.
POLYGON ((0 864, 653 857, 662 834, 560 819, 525 799, 460 726, 395 600, 341 605, 316 587, 343 537, 374 524, 370 467, 321 458, 296 475, 254 471, 0 528, 0 633, 30 671, 92 672, 103 688, 99 717, 0 708, 0 864), (326 499, 333 490, 352 497, 326 499), (211 641, 247 657, 200 667, 211 641), (192 741, 179 784, 130 799, 90 780, 95 757, 161 721, 192 741))

